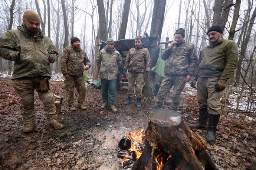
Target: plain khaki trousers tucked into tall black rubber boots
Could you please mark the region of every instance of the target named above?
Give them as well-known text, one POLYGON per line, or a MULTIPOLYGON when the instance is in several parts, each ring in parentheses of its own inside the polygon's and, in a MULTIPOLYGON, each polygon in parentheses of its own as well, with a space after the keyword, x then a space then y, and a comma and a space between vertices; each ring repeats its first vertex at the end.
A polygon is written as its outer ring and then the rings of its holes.
POLYGON ((216 91, 215 84, 219 81, 217 77, 206 77, 197 79, 197 98, 199 109, 207 108, 212 115, 221 113, 220 98, 224 91, 216 91))

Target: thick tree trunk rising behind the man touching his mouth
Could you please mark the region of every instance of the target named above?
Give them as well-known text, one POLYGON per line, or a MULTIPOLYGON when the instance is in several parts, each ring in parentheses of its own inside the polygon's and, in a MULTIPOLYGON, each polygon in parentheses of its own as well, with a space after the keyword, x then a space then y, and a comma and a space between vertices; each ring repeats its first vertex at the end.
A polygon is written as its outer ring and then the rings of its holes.
MULTIPOLYGON (((164 11, 165 11, 166 0, 155 0, 154 9, 152 15, 151 22, 151 30, 150 36, 158 35, 158 39, 152 39, 151 44, 159 44, 161 40, 162 28, 164 23, 164 11)), ((157 63, 158 54, 159 54, 159 46, 155 45, 149 49, 150 57, 151 57, 151 65, 150 68, 154 67, 157 63)), ((150 75, 145 80, 146 84, 144 87, 144 96, 153 96, 155 94, 155 73, 150 72, 150 75)))

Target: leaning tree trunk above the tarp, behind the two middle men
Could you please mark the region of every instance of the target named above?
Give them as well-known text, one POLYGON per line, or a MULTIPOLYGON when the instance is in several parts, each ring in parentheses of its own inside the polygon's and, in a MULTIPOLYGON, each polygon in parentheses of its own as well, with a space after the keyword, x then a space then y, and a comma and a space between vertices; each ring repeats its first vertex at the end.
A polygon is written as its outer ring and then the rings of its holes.
POLYGON ((131 0, 124 1, 124 10, 122 13, 122 23, 121 23, 120 30, 119 30, 118 40, 125 39, 130 5, 131 5, 131 0))

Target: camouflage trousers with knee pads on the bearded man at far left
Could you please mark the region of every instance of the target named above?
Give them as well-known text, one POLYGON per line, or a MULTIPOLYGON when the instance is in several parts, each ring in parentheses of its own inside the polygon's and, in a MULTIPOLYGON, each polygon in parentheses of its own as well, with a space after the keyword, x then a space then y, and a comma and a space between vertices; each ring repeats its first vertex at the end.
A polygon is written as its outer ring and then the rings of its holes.
MULTIPOLYGON (((37 82, 39 77, 32 78, 19 78, 13 79, 13 88, 19 95, 20 112, 25 121, 35 119, 35 106, 34 106, 34 90, 36 89, 40 100, 43 102, 43 109, 45 110, 47 118, 56 116, 55 101, 51 90, 41 93, 38 92, 37 82)), ((49 81, 50 83, 50 81, 49 81)), ((50 89, 52 85, 50 83, 50 89)))

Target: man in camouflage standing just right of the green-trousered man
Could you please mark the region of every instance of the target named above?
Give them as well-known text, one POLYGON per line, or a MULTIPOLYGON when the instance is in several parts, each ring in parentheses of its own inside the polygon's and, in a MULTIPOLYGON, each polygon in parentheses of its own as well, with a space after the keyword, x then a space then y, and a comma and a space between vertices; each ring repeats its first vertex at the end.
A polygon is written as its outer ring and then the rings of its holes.
POLYGON ((142 37, 135 37, 135 45, 129 50, 124 64, 124 75, 128 75, 128 92, 125 105, 132 103, 134 83, 136 82, 137 107, 141 108, 142 85, 144 78, 148 77, 150 71, 150 55, 148 49, 142 45, 142 37))

